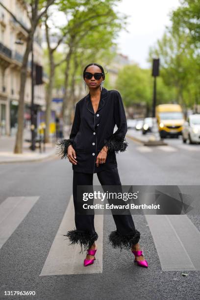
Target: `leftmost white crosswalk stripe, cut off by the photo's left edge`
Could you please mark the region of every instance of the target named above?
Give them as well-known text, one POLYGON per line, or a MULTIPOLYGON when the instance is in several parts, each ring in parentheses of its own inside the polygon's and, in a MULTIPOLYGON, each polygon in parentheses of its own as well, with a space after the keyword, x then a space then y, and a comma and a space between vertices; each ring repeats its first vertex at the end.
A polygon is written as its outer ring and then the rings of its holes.
POLYGON ((37 202, 39 196, 8 197, 0 204, 0 248, 37 202))

